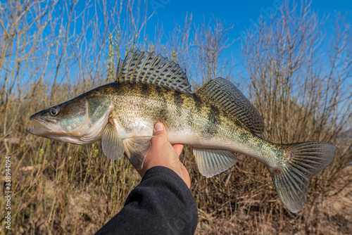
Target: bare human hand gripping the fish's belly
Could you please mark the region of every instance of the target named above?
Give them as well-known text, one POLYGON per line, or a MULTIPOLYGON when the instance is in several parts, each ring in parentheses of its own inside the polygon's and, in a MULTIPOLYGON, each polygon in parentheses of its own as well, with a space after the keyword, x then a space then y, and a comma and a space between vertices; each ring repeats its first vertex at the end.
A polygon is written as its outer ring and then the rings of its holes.
POLYGON ((187 184, 191 186, 189 173, 180 162, 180 154, 183 144, 174 144, 173 146, 168 141, 168 135, 164 125, 161 122, 156 123, 153 130, 153 138, 151 138, 151 148, 146 154, 142 170, 137 170, 141 177, 144 176, 147 170, 151 167, 163 166, 176 172, 187 184))

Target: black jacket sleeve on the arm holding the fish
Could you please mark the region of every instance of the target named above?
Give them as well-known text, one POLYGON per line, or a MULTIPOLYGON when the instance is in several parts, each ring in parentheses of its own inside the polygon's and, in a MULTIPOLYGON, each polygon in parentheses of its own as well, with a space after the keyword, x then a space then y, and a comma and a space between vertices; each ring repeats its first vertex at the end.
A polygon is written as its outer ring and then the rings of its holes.
POLYGON ((196 201, 181 177, 152 167, 125 207, 96 234, 194 234, 197 223, 196 201))

